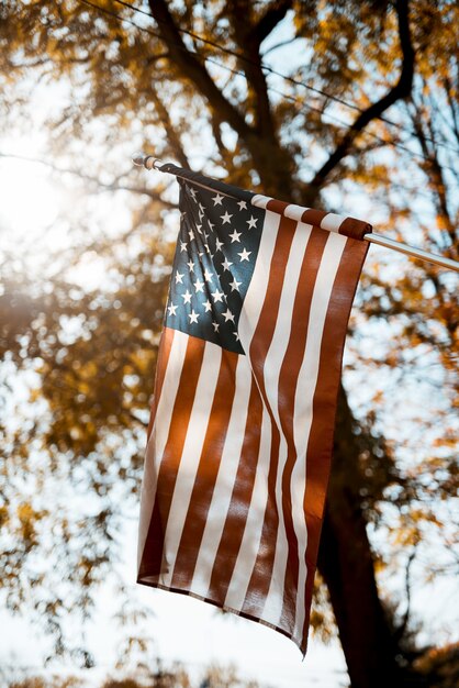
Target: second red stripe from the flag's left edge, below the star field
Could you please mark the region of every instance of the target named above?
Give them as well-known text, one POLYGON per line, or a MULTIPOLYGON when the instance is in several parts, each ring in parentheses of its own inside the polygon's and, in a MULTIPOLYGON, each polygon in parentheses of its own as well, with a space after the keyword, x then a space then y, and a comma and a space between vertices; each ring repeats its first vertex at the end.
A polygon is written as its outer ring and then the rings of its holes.
POLYGON ((194 402, 195 388, 201 373, 204 348, 205 342, 203 340, 195 337, 188 339, 169 434, 164 455, 160 459, 155 504, 153 507, 138 578, 159 576, 161 573, 164 536, 187 436, 188 423, 194 402))

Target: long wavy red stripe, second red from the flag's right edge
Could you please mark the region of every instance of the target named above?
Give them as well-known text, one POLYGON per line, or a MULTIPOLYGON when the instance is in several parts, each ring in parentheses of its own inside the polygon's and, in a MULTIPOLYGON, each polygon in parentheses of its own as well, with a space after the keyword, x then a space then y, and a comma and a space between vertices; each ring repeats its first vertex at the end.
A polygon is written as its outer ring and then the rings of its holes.
POLYGON ((293 304, 293 326, 279 377, 279 417, 288 445, 288 457, 282 474, 282 510, 289 545, 283 606, 279 625, 290 630, 293 630, 295 623, 299 576, 298 540, 293 526, 291 500, 291 477, 293 467, 298 460, 293 436, 294 400, 298 376, 306 346, 314 285, 328 236, 328 232, 317 228, 313 228, 311 232, 301 266, 298 291, 293 304))

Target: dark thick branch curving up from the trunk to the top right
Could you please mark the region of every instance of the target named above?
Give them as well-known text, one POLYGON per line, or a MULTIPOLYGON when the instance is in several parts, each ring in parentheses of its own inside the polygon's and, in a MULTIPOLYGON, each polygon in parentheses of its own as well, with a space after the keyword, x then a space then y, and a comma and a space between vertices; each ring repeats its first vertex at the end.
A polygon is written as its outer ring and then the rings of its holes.
POLYGON ((402 71, 399 81, 378 102, 363 110, 343 136, 340 143, 326 163, 315 174, 309 185, 306 197, 314 200, 318 190, 324 185, 329 173, 348 155, 349 149, 357 135, 367 126, 371 120, 379 118, 388 108, 393 106, 401 98, 410 96, 413 86, 415 54, 410 35, 408 0, 395 0, 395 10, 399 22, 399 37, 403 54, 402 71))

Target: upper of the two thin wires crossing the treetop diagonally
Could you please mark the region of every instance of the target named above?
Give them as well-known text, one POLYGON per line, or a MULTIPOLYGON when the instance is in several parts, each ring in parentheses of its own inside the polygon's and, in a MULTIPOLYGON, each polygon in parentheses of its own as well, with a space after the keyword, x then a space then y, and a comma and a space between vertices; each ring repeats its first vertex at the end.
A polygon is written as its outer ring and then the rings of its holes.
MULTIPOLYGON (((128 8, 131 10, 133 10, 134 12, 138 12, 139 14, 145 14, 146 16, 149 16, 150 19, 153 19, 158 24, 166 23, 163 20, 156 19, 150 12, 147 12, 146 10, 142 10, 141 8, 136 8, 135 5, 131 4, 130 2, 125 2, 124 0, 114 0, 114 2, 117 2, 117 4, 122 4, 123 7, 128 8)), ((324 96, 324 98, 327 98, 328 100, 332 100, 332 101, 337 102, 337 103, 339 103, 342 106, 345 106, 346 108, 349 108, 351 110, 360 112, 360 114, 365 112, 365 110, 362 108, 360 108, 359 106, 356 106, 355 103, 350 103, 347 100, 344 100, 343 98, 338 98, 337 96, 332 96, 332 93, 327 93, 326 91, 324 91, 324 90, 322 90, 320 88, 316 88, 315 86, 311 86, 311 85, 305 84, 304 81, 300 81, 299 79, 295 79, 295 78, 293 78, 293 77, 291 77, 289 75, 282 74, 280 71, 278 71, 277 69, 273 69, 269 65, 264 64, 262 62, 260 64, 258 64, 255 60, 253 60, 249 57, 247 57, 246 55, 244 55, 244 53, 239 53, 237 51, 233 51, 231 48, 224 47, 223 45, 219 45, 217 43, 214 43, 213 41, 210 41, 209 38, 204 38, 204 37, 200 36, 199 34, 194 33, 193 31, 188 31, 187 29, 180 29, 179 26, 177 26, 177 31, 179 33, 182 33, 184 35, 190 36, 191 38, 200 41, 201 43, 204 43, 205 45, 210 45, 210 46, 214 47, 215 49, 220 51, 221 53, 226 53, 227 55, 232 55, 233 57, 237 57, 238 59, 242 59, 243 62, 245 62, 245 63, 247 63, 249 65, 254 65, 256 67, 261 67, 261 69, 265 69, 269 74, 278 76, 281 79, 284 79, 286 81, 290 81, 291 84, 294 84, 295 86, 302 86, 303 88, 307 89, 309 91, 312 91, 314 93, 318 93, 320 96, 324 96)), ((402 131, 402 132, 404 132, 406 134, 410 134, 411 136, 416 136, 416 132, 414 130, 406 129, 402 124, 399 124, 399 122, 394 122, 393 120, 390 120, 389 118, 385 118, 382 114, 377 115, 376 119, 380 120, 381 122, 384 122, 385 124, 389 124, 390 126, 394 126, 395 129, 399 129, 400 131, 402 131)), ((452 146, 449 146, 446 143, 436 141, 433 137, 426 137, 426 138, 427 138, 427 141, 430 141, 432 143, 435 143, 435 145, 437 145, 437 146, 441 146, 444 148, 452 151, 456 154, 459 154, 459 151, 457 148, 455 148, 452 146)))

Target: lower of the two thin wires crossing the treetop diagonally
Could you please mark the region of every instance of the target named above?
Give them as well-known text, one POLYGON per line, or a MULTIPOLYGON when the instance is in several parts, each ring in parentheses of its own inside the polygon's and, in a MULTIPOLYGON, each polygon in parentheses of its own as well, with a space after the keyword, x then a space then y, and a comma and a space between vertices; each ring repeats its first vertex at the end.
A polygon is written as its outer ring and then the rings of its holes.
MULTIPOLYGON (((115 1, 117 2, 120 0, 115 0, 115 1)), ((220 67, 221 69, 229 71, 229 73, 234 74, 235 76, 243 76, 243 77, 245 77, 245 74, 243 71, 240 71, 239 69, 233 69, 232 67, 228 67, 227 65, 224 65, 224 64, 220 63, 219 60, 214 59, 213 57, 202 56, 197 51, 190 51, 186 46, 181 46, 178 43, 173 43, 171 41, 167 41, 166 38, 164 38, 161 36, 161 34, 157 33, 156 31, 153 31, 152 29, 148 29, 147 26, 139 26, 138 24, 133 22, 131 19, 126 19, 124 16, 121 16, 116 12, 112 12, 111 10, 102 8, 99 4, 96 4, 94 2, 91 2, 90 0, 79 0, 79 2, 81 2, 83 4, 87 4, 87 5, 96 9, 96 10, 98 10, 99 12, 102 12, 103 14, 108 14, 109 16, 113 16, 114 19, 117 19, 121 22, 127 22, 128 24, 131 24, 132 26, 135 26, 139 31, 144 31, 145 33, 148 33, 149 35, 155 36, 156 38, 159 38, 163 43, 166 43, 166 44, 169 44, 169 45, 173 45, 175 47, 177 47, 177 48, 183 51, 184 53, 187 53, 187 55, 189 55, 189 54, 195 55, 197 57, 202 58, 204 62, 210 62, 211 64, 214 64, 217 67, 220 67)), ((144 11, 142 11, 142 12, 145 13, 144 11)), ((148 12, 146 12, 146 14, 148 14, 148 12)), ((152 15, 148 14, 148 16, 152 16, 152 15)), ((309 110, 311 110, 313 112, 318 112, 321 114, 321 116, 326 116, 329 120, 334 120, 335 122, 342 124, 342 126, 344 126, 346 129, 349 127, 349 123, 348 122, 345 122, 340 118, 337 118, 337 116, 332 115, 329 113, 325 113, 320 108, 315 108, 314 106, 311 106, 310 103, 305 103, 303 101, 300 101, 299 98, 295 97, 295 96, 290 96, 289 93, 284 93, 283 91, 280 91, 279 89, 277 89, 277 88, 275 88, 272 86, 269 86, 269 85, 267 86, 267 88, 271 92, 278 93, 279 96, 282 96, 282 98, 286 98, 287 100, 290 100, 290 101, 295 102, 295 103, 301 102, 302 107, 304 107, 304 108, 306 108, 306 109, 309 109, 309 110)), ((325 122, 325 123, 329 124, 329 122, 325 122)), ((374 134, 374 133, 372 133, 372 132, 370 132, 368 130, 362 130, 361 132, 358 132, 358 134, 362 134, 362 135, 366 135, 366 136, 371 136, 372 138, 374 138, 376 141, 379 141, 383 145, 389 145, 389 146, 393 146, 395 148, 400 148, 401 151, 404 151, 405 153, 408 153, 413 158, 418 158, 418 159, 430 162, 429 158, 426 155, 423 155, 422 153, 415 153, 414 151, 412 151, 407 146, 405 146, 402 143, 399 143, 396 141, 387 141, 385 138, 382 138, 378 134, 374 134)), ((457 170, 454 169, 452 167, 444 166, 444 169, 448 169, 449 171, 452 171, 454 174, 457 174, 457 170)))

